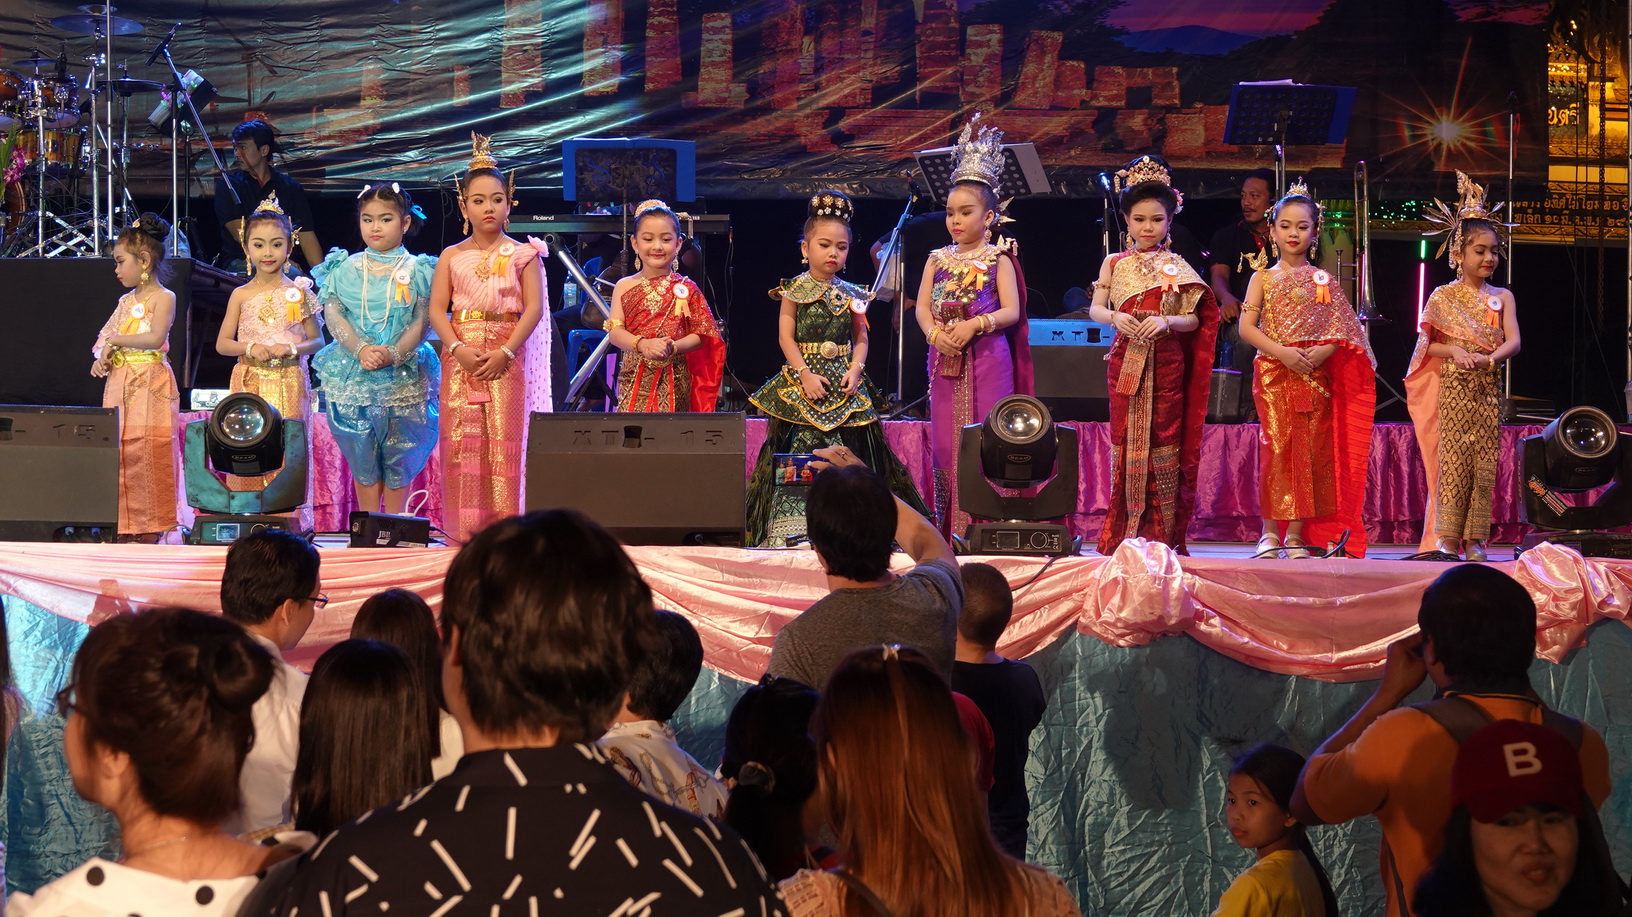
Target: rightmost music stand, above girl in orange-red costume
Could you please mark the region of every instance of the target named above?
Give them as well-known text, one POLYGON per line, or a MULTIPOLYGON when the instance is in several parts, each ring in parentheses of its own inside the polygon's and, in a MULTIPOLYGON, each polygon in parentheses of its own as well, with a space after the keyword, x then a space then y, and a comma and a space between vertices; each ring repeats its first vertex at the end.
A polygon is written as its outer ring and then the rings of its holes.
POLYGON ((1275 194, 1286 193, 1286 147, 1342 144, 1355 111, 1353 86, 1306 86, 1291 80, 1235 83, 1224 142, 1275 147, 1275 194))

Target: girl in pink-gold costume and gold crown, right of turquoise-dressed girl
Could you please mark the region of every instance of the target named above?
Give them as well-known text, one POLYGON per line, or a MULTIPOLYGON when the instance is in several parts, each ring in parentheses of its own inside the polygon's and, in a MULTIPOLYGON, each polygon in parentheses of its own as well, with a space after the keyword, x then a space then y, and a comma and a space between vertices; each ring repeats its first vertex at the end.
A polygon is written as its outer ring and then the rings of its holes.
POLYGON ((460 542, 521 512, 527 414, 550 410, 548 325, 534 333, 548 248, 504 235, 514 183, 486 137, 472 142, 459 179, 470 237, 442 251, 431 279, 431 326, 442 339, 442 529, 460 542))

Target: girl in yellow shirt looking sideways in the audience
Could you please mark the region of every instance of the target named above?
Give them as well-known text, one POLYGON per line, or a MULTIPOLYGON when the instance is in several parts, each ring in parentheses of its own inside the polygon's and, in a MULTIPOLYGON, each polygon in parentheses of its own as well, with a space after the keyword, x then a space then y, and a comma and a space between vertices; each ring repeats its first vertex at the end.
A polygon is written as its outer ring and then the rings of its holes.
POLYGON ((1291 814, 1302 769, 1304 755, 1281 746, 1258 746, 1231 767, 1224 817, 1258 860, 1235 876, 1213 917, 1337 917, 1332 879, 1291 814))

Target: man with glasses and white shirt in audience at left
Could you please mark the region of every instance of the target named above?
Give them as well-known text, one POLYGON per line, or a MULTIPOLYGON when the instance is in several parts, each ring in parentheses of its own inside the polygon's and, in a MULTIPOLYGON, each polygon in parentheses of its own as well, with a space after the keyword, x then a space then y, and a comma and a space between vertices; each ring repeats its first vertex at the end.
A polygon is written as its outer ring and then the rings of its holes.
POLYGON ((238 622, 277 666, 273 684, 255 702, 255 746, 243 759, 238 785, 243 804, 227 824, 232 834, 251 834, 294 824, 289 783, 300 747, 300 700, 307 676, 282 651, 305 636, 317 610, 328 604, 318 578, 317 548, 289 532, 255 532, 227 548, 220 573, 220 610, 238 622))

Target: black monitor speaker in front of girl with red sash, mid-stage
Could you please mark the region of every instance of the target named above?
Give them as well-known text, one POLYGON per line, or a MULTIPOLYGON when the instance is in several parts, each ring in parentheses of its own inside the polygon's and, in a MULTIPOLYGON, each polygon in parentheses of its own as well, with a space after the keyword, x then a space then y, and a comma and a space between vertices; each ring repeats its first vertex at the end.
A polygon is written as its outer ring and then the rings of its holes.
POLYGON ((527 509, 578 509, 628 545, 743 547, 746 414, 534 413, 527 509))

